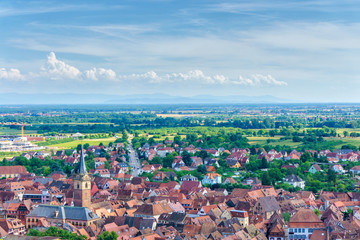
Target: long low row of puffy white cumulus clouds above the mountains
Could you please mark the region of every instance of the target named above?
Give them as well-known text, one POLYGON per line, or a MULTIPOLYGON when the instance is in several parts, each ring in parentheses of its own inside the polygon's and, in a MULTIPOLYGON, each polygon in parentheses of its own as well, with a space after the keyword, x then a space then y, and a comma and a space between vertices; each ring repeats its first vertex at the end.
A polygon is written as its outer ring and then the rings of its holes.
POLYGON ((71 66, 64 61, 57 59, 54 52, 50 52, 47 61, 39 73, 28 73, 23 76, 19 70, 0 68, 0 79, 11 80, 24 80, 26 78, 32 80, 44 81, 46 79, 51 80, 73 80, 83 81, 91 80, 97 81, 117 81, 124 84, 124 86, 130 86, 136 83, 161 85, 167 83, 176 86, 189 86, 191 84, 205 84, 213 86, 250 86, 250 87, 262 87, 262 86, 287 86, 284 81, 276 80, 271 75, 253 74, 248 78, 239 76, 233 78, 222 74, 209 75, 205 74, 202 70, 195 69, 188 72, 180 73, 164 73, 158 74, 155 71, 149 71, 141 74, 129 74, 129 75, 117 75, 112 69, 105 68, 92 68, 89 70, 81 71, 75 66, 71 66))

